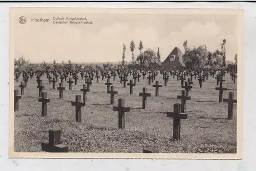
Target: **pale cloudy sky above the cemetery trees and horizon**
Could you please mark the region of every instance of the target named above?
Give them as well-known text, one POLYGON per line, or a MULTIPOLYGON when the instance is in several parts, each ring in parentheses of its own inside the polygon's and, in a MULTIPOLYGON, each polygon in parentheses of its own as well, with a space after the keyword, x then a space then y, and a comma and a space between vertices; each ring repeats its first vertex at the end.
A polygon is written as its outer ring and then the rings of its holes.
POLYGON ((23 56, 31 62, 118 62, 126 45, 125 60, 131 60, 130 41, 135 41, 135 55, 143 42, 144 50, 160 47, 163 61, 174 47, 184 52, 189 47, 206 44, 208 51, 220 49, 226 39, 227 60, 238 52, 238 21, 236 15, 223 14, 26 14, 27 23, 17 20, 13 37, 15 58, 23 56), (54 25, 53 17, 83 16, 93 25, 54 25), (31 22, 31 17, 49 18, 50 23, 31 22))

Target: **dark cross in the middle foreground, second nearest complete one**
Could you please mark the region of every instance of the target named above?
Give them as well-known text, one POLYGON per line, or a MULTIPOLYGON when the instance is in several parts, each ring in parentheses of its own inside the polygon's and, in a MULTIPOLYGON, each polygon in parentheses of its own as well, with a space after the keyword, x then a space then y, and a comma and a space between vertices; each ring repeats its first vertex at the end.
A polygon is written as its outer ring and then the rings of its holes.
POLYGON ((124 112, 129 112, 130 107, 124 107, 124 99, 118 99, 118 106, 114 106, 113 110, 118 111, 118 129, 124 129, 124 112))

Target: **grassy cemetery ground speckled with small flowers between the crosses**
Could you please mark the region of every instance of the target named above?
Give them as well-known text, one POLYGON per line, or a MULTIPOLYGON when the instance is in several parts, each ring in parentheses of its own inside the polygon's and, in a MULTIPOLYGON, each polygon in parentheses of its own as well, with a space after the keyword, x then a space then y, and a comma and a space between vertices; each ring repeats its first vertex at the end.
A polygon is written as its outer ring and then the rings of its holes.
MULTIPOLYGON (((79 75, 80 78, 80 75, 79 75)), ((129 76, 130 80, 132 76, 129 76)), ((15 89, 19 89, 15 81, 15 89)), ((181 120, 181 140, 172 141, 173 119, 166 117, 166 112, 173 111, 174 103, 181 103, 177 95, 181 95, 181 84, 177 79, 169 78, 164 86, 162 75, 156 80, 163 85, 159 96, 155 96, 155 88, 147 85, 147 80, 140 78, 134 87, 134 94, 129 94, 129 86, 123 88, 117 77, 111 82, 118 94, 115 95, 115 105, 118 99, 125 100, 125 106, 131 111, 125 113, 125 130, 118 130, 118 112, 110 105, 110 94, 99 79, 93 80, 91 90, 87 95, 88 102, 82 107, 82 123, 75 121, 75 95, 80 94, 84 80, 79 79, 69 91, 68 83, 59 99, 59 91, 52 89, 45 76, 41 78, 51 102, 48 103, 48 116, 41 117, 41 103, 38 102, 36 79, 27 83, 25 94, 19 100, 19 111, 14 119, 14 152, 41 152, 41 141, 48 141, 49 129, 61 129, 62 144, 69 145, 70 152, 90 153, 142 153, 144 148, 155 147, 161 153, 236 153, 237 149, 237 105, 234 104, 234 118, 227 120, 227 103, 219 102, 219 91, 215 90, 216 79, 209 77, 199 88, 197 80, 193 80, 193 88, 189 95, 191 100, 186 103, 188 118, 181 120), (142 108, 142 87, 147 87, 151 97, 147 98, 147 108, 142 108)), ((68 80, 68 79, 67 79, 68 80)), ((223 97, 228 98, 228 92, 234 92, 237 99, 237 84, 233 84, 231 76, 226 74, 223 97)), ((59 82, 59 79, 58 79, 59 82)), ((155 81, 154 81, 155 82, 155 81)), ((58 87, 58 84, 56 84, 58 87)), ((20 89, 19 89, 20 92, 20 89)))

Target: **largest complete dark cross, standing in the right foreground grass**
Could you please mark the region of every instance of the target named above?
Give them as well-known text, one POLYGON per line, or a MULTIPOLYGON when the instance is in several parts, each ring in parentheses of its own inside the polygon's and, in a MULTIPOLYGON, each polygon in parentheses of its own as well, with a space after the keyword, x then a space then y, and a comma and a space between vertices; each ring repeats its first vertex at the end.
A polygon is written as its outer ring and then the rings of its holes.
POLYGON ((181 105, 174 104, 174 112, 167 112, 167 117, 174 118, 173 141, 180 140, 180 119, 187 119, 187 113, 181 113, 181 105))

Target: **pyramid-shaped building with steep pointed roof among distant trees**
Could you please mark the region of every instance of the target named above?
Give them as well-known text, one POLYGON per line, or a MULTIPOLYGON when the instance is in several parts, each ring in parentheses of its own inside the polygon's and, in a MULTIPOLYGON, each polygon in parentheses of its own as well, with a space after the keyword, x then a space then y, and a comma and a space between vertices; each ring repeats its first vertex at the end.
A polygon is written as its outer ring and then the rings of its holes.
POLYGON ((161 67, 165 68, 181 68, 185 67, 182 60, 183 54, 178 47, 167 56, 167 58, 162 62, 161 67))

